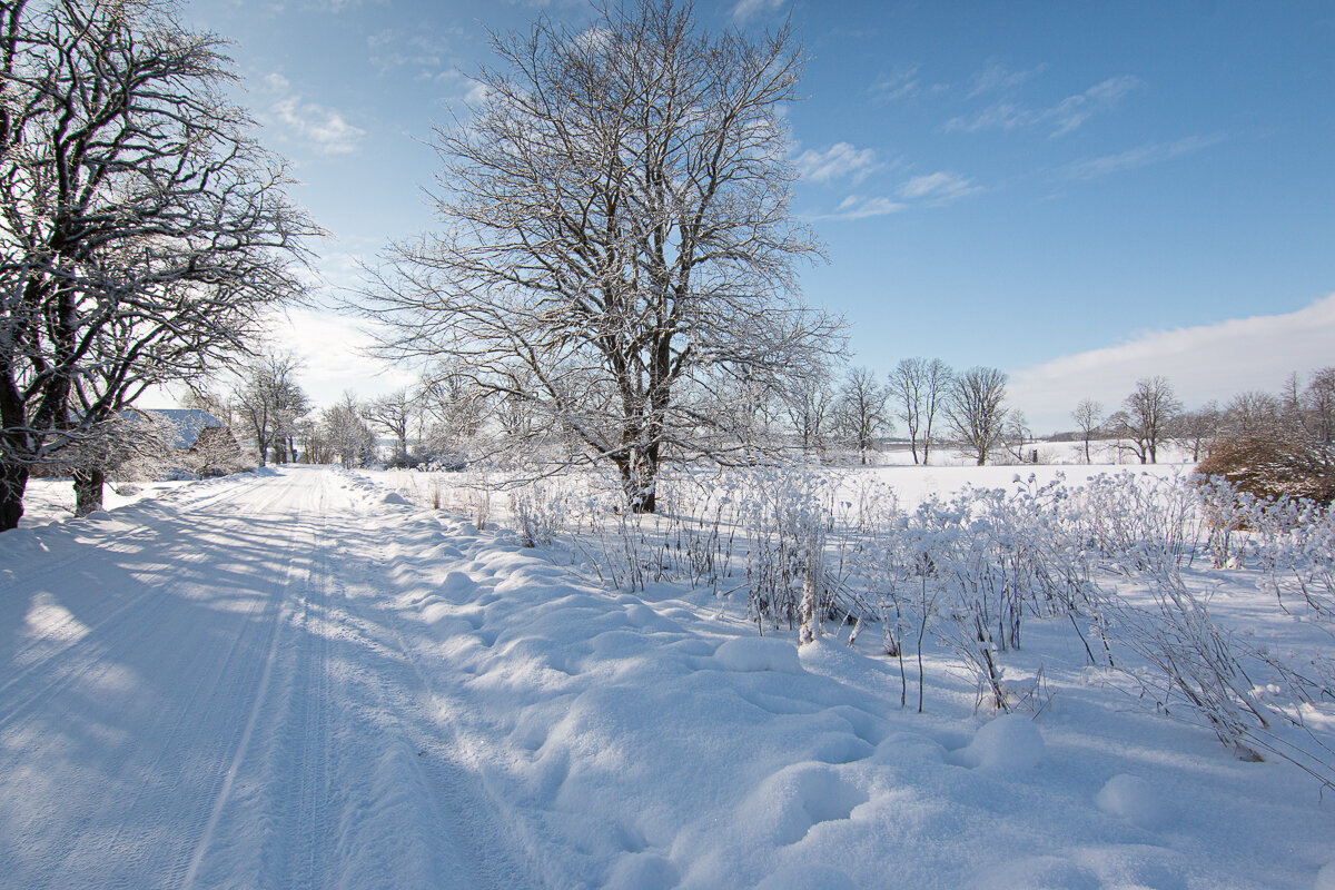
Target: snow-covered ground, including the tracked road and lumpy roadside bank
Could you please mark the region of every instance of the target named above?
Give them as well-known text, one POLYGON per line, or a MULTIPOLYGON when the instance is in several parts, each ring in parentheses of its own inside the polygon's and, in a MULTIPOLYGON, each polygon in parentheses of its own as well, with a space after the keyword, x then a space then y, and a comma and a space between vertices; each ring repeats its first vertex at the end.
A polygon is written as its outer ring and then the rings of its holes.
MULTIPOLYGON (((862 476, 910 508, 1057 470, 862 476)), ((929 646, 918 714, 878 632, 609 590, 507 496, 433 486, 284 468, 0 535, 0 885, 1335 887, 1310 775, 1109 682, 1065 622, 1005 655, 1037 707, 979 707, 929 646)), ((1222 626, 1328 652, 1207 566, 1222 626)))

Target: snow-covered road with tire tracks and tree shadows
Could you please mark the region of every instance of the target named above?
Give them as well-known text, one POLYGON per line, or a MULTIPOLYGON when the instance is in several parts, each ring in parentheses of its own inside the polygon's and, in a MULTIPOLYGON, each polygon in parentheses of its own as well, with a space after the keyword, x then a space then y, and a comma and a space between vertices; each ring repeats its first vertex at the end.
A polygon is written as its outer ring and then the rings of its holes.
POLYGON ((0 882, 534 886, 458 781, 366 510, 294 471, 28 542, 0 582, 0 882))

